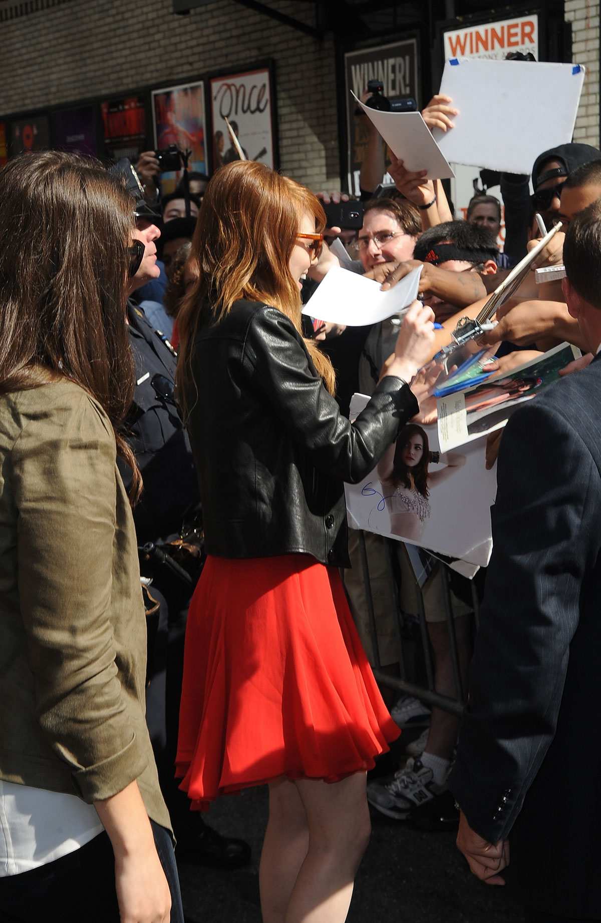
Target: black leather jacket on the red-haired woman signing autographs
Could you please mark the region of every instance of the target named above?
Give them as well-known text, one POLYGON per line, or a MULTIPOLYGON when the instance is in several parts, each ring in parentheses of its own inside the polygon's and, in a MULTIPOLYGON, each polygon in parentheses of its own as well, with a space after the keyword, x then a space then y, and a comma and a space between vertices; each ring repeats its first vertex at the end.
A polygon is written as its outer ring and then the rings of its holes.
POLYGON ((418 411, 384 378, 351 424, 324 388, 302 337, 277 308, 238 301, 194 343, 186 391, 207 552, 302 552, 348 566, 344 481, 379 462, 418 411))

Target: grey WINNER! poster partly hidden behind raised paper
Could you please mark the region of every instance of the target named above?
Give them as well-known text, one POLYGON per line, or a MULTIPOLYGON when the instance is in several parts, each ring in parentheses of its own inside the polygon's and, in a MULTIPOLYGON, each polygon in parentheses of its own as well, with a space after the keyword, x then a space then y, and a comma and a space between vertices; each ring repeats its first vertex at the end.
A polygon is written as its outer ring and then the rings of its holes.
POLYGON ((384 96, 389 99, 412 96, 421 108, 419 91, 419 60, 417 39, 391 42, 376 48, 363 48, 344 55, 344 93, 346 105, 346 135, 348 150, 348 188, 359 195, 359 171, 365 159, 367 146, 366 116, 356 116, 356 102, 367 90, 368 80, 380 80, 384 96))

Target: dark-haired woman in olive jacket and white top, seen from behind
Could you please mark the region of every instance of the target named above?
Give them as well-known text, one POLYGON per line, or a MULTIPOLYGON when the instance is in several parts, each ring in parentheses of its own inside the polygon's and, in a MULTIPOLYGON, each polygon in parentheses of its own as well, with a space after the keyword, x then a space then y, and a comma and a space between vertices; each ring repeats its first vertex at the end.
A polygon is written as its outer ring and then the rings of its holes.
POLYGON ((139 487, 116 428, 133 206, 70 155, 0 172, 0 916, 27 923, 183 918, 116 468, 139 487))

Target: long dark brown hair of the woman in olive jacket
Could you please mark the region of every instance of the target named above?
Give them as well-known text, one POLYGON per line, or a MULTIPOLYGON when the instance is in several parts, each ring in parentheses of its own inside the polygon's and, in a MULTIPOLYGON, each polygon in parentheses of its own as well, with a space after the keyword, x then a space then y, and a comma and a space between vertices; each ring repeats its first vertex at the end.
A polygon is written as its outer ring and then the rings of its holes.
POLYGON ((0 394, 67 378, 117 427, 135 368, 126 329, 133 200, 99 163, 59 151, 0 170, 0 394))

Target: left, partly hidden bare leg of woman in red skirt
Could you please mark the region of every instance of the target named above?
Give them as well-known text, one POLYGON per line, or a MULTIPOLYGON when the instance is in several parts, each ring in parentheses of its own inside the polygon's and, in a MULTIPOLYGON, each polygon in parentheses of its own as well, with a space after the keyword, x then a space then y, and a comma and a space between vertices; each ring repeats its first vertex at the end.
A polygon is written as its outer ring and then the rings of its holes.
POLYGON ((296 785, 283 778, 271 782, 270 819, 258 869, 263 923, 283 923, 308 845, 307 814, 296 785))

